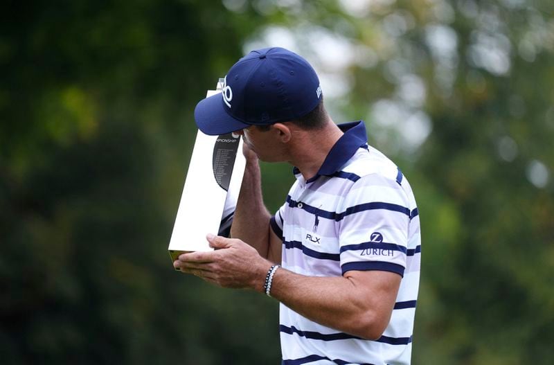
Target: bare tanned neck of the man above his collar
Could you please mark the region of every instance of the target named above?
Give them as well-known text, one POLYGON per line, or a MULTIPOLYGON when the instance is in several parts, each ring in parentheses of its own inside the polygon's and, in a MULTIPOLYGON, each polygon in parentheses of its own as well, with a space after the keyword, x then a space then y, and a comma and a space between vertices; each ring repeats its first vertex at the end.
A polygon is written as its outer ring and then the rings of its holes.
POLYGON ((300 170, 305 180, 311 179, 342 135, 343 132, 332 121, 321 130, 298 130, 289 162, 300 170))

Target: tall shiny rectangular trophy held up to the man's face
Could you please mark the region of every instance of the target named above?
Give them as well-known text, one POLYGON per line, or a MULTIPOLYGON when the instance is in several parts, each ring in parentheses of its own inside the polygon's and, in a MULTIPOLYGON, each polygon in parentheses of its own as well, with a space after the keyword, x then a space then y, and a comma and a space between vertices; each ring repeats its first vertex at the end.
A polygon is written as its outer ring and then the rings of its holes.
MULTIPOLYGON (((222 92, 224 79, 206 97, 222 92)), ((206 234, 229 236, 246 159, 234 133, 208 136, 198 130, 169 243, 172 261, 190 251, 211 251, 206 234)))

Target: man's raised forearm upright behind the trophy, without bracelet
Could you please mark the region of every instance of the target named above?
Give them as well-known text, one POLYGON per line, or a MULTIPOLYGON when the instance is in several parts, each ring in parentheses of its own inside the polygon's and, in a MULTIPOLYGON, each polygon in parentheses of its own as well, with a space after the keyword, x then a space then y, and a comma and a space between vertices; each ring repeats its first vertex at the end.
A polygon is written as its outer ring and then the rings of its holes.
POLYGON ((247 242, 267 258, 269 251, 269 219, 271 215, 262 199, 261 173, 257 158, 247 158, 246 170, 238 197, 231 237, 247 242))

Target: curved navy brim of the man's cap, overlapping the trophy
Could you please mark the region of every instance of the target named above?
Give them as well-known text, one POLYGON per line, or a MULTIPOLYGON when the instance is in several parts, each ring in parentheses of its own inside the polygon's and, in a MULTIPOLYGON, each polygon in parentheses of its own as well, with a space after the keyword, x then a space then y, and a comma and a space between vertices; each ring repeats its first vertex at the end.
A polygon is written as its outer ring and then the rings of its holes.
POLYGON ((200 100, 195 108, 195 121, 198 129, 210 136, 217 136, 243 130, 248 124, 230 116, 224 109, 222 94, 200 100))

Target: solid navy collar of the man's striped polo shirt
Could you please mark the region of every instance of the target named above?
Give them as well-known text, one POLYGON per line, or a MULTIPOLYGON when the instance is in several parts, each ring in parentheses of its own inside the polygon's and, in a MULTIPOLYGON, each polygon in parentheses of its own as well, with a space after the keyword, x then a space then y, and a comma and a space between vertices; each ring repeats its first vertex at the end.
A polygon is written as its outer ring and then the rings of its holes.
MULTIPOLYGON (((344 134, 334 143, 317 174, 306 182, 312 182, 321 175, 333 175, 334 172, 340 170, 350 157, 354 156, 358 148, 368 143, 364 121, 343 123, 337 126, 344 134)), ((293 172, 298 175, 300 170, 295 167, 293 172)))

